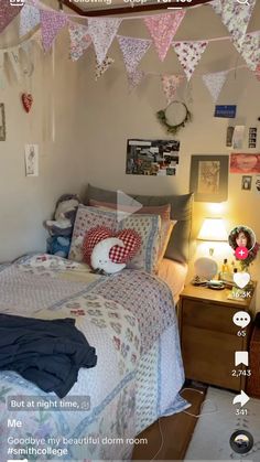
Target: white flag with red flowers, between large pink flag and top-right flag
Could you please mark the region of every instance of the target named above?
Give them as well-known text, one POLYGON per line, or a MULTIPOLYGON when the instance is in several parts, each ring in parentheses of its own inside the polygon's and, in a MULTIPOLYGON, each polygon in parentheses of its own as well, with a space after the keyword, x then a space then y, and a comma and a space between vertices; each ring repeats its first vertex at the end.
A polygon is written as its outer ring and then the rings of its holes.
POLYGON ((206 41, 197 42, 173 42, 174 51, 178 57, 180 63, 186 74, 187 80, 191 79, 196 65, 198 64, 202 54, 207 46, 206 41))

